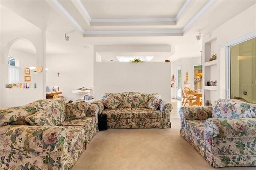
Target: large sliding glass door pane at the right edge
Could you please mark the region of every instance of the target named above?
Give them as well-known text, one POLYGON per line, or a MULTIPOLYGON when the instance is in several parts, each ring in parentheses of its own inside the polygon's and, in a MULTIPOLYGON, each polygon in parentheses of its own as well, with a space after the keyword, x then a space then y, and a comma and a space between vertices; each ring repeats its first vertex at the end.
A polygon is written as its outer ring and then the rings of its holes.
POLYGON ((256 103, 256 38, 230 51, 230 98, 256 103))

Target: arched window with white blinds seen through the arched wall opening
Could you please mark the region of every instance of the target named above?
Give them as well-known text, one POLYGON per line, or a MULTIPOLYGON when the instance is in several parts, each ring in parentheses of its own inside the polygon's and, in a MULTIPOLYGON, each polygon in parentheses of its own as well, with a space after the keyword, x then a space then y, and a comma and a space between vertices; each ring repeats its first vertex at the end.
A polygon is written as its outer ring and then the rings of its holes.
POLYGON ((8 56, 8 76, 9 84, 20 83, 20 67, 17 66, 17 60, 11 56, 8 56))

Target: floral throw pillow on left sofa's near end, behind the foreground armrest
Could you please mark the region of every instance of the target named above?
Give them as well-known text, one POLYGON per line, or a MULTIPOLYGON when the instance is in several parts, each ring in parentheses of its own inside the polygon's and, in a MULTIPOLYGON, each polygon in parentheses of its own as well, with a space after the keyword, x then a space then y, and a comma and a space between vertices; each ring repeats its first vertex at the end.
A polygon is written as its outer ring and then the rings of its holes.
POLYGON ((30 115, 25 118, 25 121, 32 126, 54 126, 54 123, 50 119, 45 111, 38 111, 34 115, 30 115))

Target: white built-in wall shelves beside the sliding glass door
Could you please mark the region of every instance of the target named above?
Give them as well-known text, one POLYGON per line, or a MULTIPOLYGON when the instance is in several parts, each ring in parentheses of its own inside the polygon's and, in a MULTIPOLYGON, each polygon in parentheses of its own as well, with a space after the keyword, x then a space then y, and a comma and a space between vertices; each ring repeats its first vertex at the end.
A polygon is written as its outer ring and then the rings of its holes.
POLYGON ((218 70, 219 70, 219 59, 220 53, 217 47, 217 38, 212 38, 207 42, 203 42, 203 105, 208 100, 211 104, 218 99, 218 70), (217 55, 217 59, 209 61, 212 54, 217 55), (217 80, 217 86, 207 86, 207 81, 217 80))

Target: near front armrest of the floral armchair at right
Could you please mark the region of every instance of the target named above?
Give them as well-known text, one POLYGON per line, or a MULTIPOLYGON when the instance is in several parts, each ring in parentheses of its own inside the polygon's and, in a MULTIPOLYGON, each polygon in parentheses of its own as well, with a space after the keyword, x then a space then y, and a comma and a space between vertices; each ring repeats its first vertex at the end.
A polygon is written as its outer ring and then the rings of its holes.
POLYGON ((207 119, 204 123, 204 139, 256 138, 256 119, 207 119))

